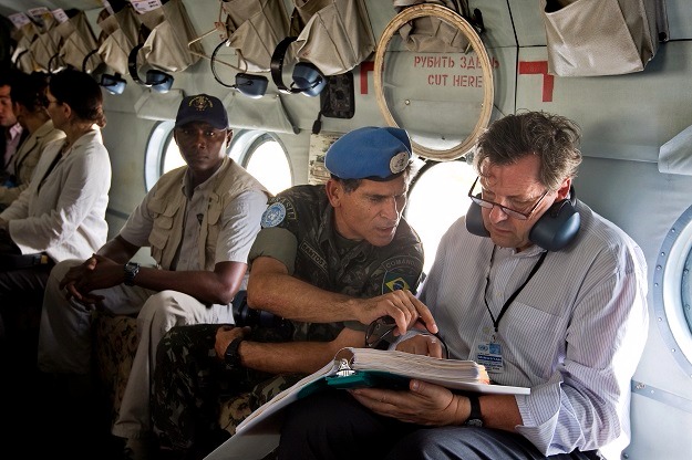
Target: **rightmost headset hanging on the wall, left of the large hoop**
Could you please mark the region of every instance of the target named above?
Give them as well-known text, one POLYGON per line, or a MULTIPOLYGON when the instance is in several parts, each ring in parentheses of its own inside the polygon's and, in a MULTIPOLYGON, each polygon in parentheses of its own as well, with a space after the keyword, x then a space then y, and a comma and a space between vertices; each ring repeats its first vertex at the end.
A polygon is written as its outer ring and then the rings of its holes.
POLYGON ((320 70, 308 62, 298 62, 293 66, 292 83, 287 86, 283 83, 283 59, 289 45, 295 42, 297 36, 287 36, 281 40, 271 55, 271 80, 277 88, 287 94, 302 93, 306 96, 314 97, 327 86, 327 79, 320 70))

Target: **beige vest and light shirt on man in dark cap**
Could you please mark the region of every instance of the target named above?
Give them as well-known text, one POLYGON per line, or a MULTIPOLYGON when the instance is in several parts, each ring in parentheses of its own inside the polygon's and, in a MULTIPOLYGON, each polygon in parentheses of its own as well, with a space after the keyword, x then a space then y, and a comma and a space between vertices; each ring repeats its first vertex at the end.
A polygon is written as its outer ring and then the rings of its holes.
POLYGON ((132 244, 151 245, 152 257, 166 270, 247 263, 269 195, 230 158, 194 189, 184 166, 162 176, 120 234, 132 244))

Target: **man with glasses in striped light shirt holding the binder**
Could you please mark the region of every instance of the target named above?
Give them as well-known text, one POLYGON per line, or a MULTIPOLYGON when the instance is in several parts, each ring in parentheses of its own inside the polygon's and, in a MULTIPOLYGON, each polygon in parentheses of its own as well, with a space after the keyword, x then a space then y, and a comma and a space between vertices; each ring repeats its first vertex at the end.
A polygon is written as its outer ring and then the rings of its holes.
MULTIPOLYGON (((451 357, 530 395, 414 379, 409 390, 327 390, 288 408, 280 460, 620 458, 648 332, 647 264, 570 192, 579 138, 541 112, 493 123, 474 156, 469 212, 443 237, 421 292, 451 357)), ((399 341, 430 349, 415 332, 399 341)))

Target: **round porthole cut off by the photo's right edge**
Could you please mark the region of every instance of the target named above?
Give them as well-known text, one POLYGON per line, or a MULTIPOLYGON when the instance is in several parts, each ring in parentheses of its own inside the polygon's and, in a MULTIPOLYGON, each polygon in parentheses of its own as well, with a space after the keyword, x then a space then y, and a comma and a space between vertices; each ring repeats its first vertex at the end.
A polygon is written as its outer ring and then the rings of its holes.
POLYGON ((663 240, 653 271, 655 322, 678 364, 692 377, 692 207, 663 240))

